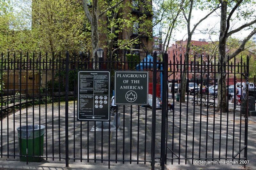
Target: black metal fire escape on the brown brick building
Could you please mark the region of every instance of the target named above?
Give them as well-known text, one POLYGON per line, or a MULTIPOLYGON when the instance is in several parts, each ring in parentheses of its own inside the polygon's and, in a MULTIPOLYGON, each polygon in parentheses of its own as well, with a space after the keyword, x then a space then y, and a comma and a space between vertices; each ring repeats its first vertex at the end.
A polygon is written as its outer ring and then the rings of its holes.
MULTIPOLYGON (((147 18, 145 20, 147 20, 147 19, 149 19, 150 17, 153 16, 152 15, 152 10, 150 10, 148 8, 148 3, 146 3, 145 0, 132 0, 132 7, 133 8, 132 8, 131 13, 136 14, 138 16, 138 18, 142 17, 143 15, 146 15, 147 18), (139 3, 139 1, 141 3, 139 3), (143 8, 145 10, 143 10, 143 8)), ((143 25, 144 30, 148 30, 148 28, 144 25, 145 20, 141 20, 139 23, 140 23, 140 25, 143 25)), ((135 25, 133 24, 133 30, 132 30, 131 38, 135 38, 135 37, 139 36, 140 45, 142 46, 145 53, 148 54, 148 49, 142 41, 142 39, 148 39, 148 35, 145 32, 142 32, 142 33, 138 32, 138 28, 140 26, 139 23, 137 23, 137 25, 136 25, 136 23, 135 23, 135 25), (136 26, 138 27, 137 31, 136 31, 136 26)))

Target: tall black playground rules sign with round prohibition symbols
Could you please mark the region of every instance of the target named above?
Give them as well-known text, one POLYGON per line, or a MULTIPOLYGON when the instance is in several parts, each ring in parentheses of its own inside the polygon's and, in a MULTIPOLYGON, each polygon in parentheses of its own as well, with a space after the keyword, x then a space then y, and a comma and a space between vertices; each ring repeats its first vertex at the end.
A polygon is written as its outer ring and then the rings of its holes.
POLYGON ((109 120, 109 71, 79 71, 77 120, 109 120))

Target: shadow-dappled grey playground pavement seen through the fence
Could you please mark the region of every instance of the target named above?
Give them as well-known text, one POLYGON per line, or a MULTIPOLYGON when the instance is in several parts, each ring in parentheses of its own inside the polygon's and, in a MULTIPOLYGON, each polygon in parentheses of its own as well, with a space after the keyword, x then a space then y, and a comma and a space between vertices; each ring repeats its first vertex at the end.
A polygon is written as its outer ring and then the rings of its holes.
MULTIPOLYGON (((151 120, 152 120, 152 110, 150 108, 142 108, 138 106, 125 106, 120 107, 119 111, 121 112, 121 125, 120 131, 111 131, 110 132, 110 159, 118 160, 124 159, 129 160, 130 156, 133 160, 139 159, 140 161, 150 160, 151 152, 151 120), (131 116, 132 109, 132 116, 131 116), (139 114, 138 114, 139 110, 139 114), (147 114, 146 114, 147 111, 147 114), (146 118, 147 117, 147 118, 146 118), (125 122, 123 124, 123 122, 125 122), (131 134, 131 124, 132 124, 132 134, 131 134), (139 133, 139 138, 138 138, 139 133), (117 135, 116 135, 117 134, 117 135), (130 138, 132 136, 132 138, 130 138), (123 140, 124 139, 124 140, 123 140), (117 145, 116 145, 117 140, 117 145), (139 142, 138 142, 139 141, 139 142), (145 147, 146 143, 146 147, 145 147), (123 147, 124 145, 124 147, 123 147), (117 154, 116 154, 117 153, 117 154)), ((64 159, 59 160, 58 157, 65 158, 65 103, 60 103, 60 110, 58 103, 41 105, 40 112, 41 124, 47 125, 47 135, 45 134, 44 138, 44 156, 54 156, 55 159, 48 158, 43 162, 50 163, 64 163, 64 159), (46 111, 47 110, 47 111, 46 111), (53 112, 52 112, 53 110, 53 112), (60 115, 60 116, 59 116, 60 115), (47 122, 47 124, 46 124, 47 122), (60 123, 60 126, 59 126, 60 123), (53 130, 52 130, 53 129, 53 130), (60 133, 59 133, 60 131, 60 133), (46 142, 47 137, 47 142, 46 142), (46 150, 47 144, 47 150, 46 150), (46 153, 47 151, 47 153, 46 153)), ((7 146, 9 145, 9 154, 15 153, 18 154, 19 145, 16 128, 21 125, 26 125, 33 123, 33 107, 29 107, 28 111, 23 109, 15 112, 15 114, 9 115, 8 124, 9 124, 9 139, 7 140, 7 117, 3 119, 3 154, 7 154, 7 146), (28 113, 28 114, 27 114, 28 113), (21 115, 21 117, 20 117, 21 115), (28 116, 26 116, 28 115, 28 116), (27 119, 28 117, 28 119, 27 119), (15 120, 13 122, 13 120, 15 120), (15 139, 15 142, 13 140, 15 139)), ((192 153, 194 158, 212 158, 212 153, 214 158, 218 158, 219 155, 221 158, 225 158, 226 154, 228 157, 232 157, 232 150, 234 144, 234 154, 239 151, 240 148, 244 146, 244 122, 241 122, 241 136, 240 136, 240 118, 244 120, 243 116, 240 117, 239 112, 231 112, 229 115, 223 113, 213 113, 213 108, 207 108, 200 105, 192 105, 192 103, 176 103, 175 102, 175 112, 168 112, 168 142, 167 146, 172 149, 172 138, 173 138, 173 152, 180 156, 180 158, 192 158, 192 153), (181 106, 181 107, 180 107, 181 106), (180 109, 181 108, 181 109, 180 109), (188 114, 187 113, 188 110, 188 114), (194 111, 195 110, 195 113, 194 111), (200 117, 200 113, 202 116, 200 117), (207 114, 208 113, 208 114, 207 114), (208 116, 207 116, 208 115, 208 116), (174 121, 173 121, 174 118, 174 121), (235 122, 234 122, 235 118, 235 122), (221 135, 220 135, 220 120, 221 120, 221 135), (194 123, 193 123, 194 121, 194 123), (213 126, 214 121, 214 126, 213 126), (188 123, 187 123, 188 122, 188 123), (200 128, 201 122, 201 128, 200 128), (208 122, 208 123, 207 123, 208 122), (235 125, 235 126, 234 126, 235 125), (194 127, 194 128, 193 128, 194 127), (214 140, 213 140, 213 127, 214 127, 214 140), (228 127, 228 131, 227 131, 228 127), (235 127, 235 128, 234 128, 235 127), (208 133, 207 133, 208 128, 208 133), (194 129, 194 131, 193 131, 194 129), (234 135, 233 135, 234 131, 234 135), (221 136, 221 139, 220 139, 221 136), (239 143, 241 139, 241 143, 239 143), (187 141, 187 143, 186 143, 187 141), (194 141, 194 146, 193 146, 194 141), (226 143, 228 141, 228 143, 226 143), (234 142, 233 142, 234 141, 234 142), (207 145, 206 145, 207 142, 207 145), (228 144, 228 145, 227 145, 228 144), (219 150, 220 147, 220 150, 219 150), (200 152, 199 152, 200 149, 200 152), (187 151, 187 152, 186 152, 187 151), (219 152, 220 151, 220 152, 219 152), (186 154, 187 153, 187 154, 186 154)), ((113 119, 113 117, 111 117, 113 119)), ((34 106, 34 123, 39 124, 39 106, 34 106)), ((256 117, 249 117, 249 126, 248 126, 248 168, 256 168, 256 147, 255 147, 255 124, 256 117)), ((72 158, 87 159, 89 156, 90 159, 101 159, 101 142, 103 159, 108 159, 108 131, 104 132, 102 135, 101 141, 101 132, 96 132, 94 136, 94 131, 90 131, 93 127, 93 122, 82 122, 76 121, 76 103, 73 101, 69 102, 69 117, 68 117, 68 134, 69 134, 69 158, 70 164, 87 164, 87 165, 108 165, 108 161, 96 161, 90 160, 89 163, 87 160, 76 160, 73 161, 72 158), (74 107, 75 106, 75 107, 74 107), (74 109, 75 108, 75 109, 74 109), (75 122, 75 123, 74 123, 75 122), (89 128, 88 128, 89 127, 89 128), (94 143, 94 140, 96 143, 94 143), (89 143, 87 143, 89 142, 89 143), (87 147, 89 144, 89 148, 87 147), (94 154, 94 144, 96 148, 96 154, 94 154), (89 151, 89 152, 88 152, 89 151)), ((161 142, 161 110, 156 112, 156 158, 160 157, 160 142, 161 142)), ((241 157, 243 157, 244 152, 241 152, 241 157)), ((176 158, 175 155, 172 155, 170 150, 167 151, 167 158, 176 158)), ((6 160, 7 157, 1 158, 6 160)), ((15 159, 9 157, 7 160, 19 160, 19 157, 15 159)), ((156 159, 159 161, 159 159, 156 159)), ((188 160, 187 165, 185 165, 185 160, 181 159, 180 165, 178 160, 172 161, 167 160, 167 169, 199 169, 199 168, 234 168, 240 169, 240 165, 192 165, 192 161, 188 160)), ((111 166, 117 165, 122 166, 123 162, 111 161, 111 166)), ((124 166, 144 166, 149 168, 150 164, 144 162, 124 162, 124 166)), ((156 163, 158 167, 159 163, 156 163)))

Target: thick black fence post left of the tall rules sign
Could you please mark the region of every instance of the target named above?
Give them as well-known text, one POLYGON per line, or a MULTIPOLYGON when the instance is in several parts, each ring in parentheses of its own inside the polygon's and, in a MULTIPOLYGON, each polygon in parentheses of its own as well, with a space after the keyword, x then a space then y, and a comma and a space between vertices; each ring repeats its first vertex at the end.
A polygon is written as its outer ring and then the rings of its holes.
POLYGON ((65 79, 65 146, 66 146, 66 167, 68 167, 68 60, 69 53, 66 53, 66 79, 65 79))

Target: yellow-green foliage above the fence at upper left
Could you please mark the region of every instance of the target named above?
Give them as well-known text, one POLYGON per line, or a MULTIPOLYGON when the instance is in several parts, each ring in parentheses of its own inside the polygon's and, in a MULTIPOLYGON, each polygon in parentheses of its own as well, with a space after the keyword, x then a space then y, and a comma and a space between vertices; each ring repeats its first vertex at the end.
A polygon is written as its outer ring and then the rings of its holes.
POLYGON ((1 1, 0 51, 82 50, 90 46, 86 26, 76 0, 1 1))

